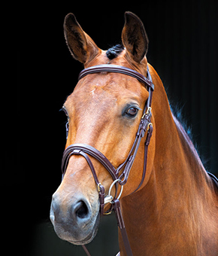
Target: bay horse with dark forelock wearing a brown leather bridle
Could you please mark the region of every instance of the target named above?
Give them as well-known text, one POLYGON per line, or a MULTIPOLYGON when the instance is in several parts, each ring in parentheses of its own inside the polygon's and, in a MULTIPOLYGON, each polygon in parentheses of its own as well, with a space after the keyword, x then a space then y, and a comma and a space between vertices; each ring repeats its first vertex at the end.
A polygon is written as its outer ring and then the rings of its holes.
POLYGON ((74 14, 65 17, 64 33, 72 56, 85 69, 63 105, 68 117, 64 171, 50 209, 56 234, 85 245, 97 233, 100 212, 114 206, 128 236, 119 229, 122 256, 217 256, 216 181, 205 171, 171 112, 159 75, 147 62, 141 20, 126 12, 123 45, 109 50, 97 47, 74 14), (145 121, 146 129, 140 130, 145 121), (135 146, 139 130, 145 136, 135 146), (135 160, 126 175, 122 172, 130 158, 135 160))

